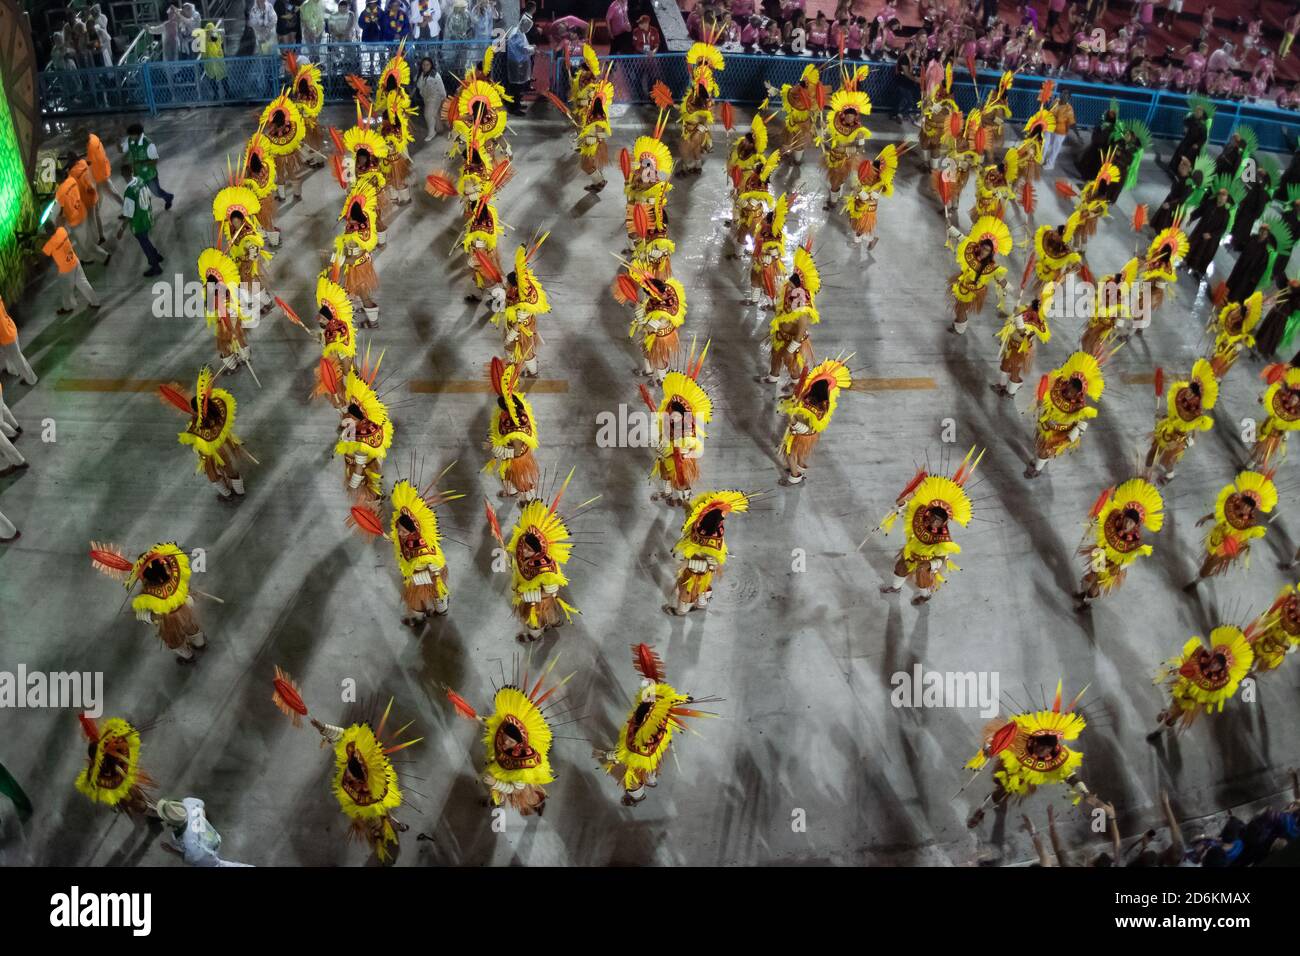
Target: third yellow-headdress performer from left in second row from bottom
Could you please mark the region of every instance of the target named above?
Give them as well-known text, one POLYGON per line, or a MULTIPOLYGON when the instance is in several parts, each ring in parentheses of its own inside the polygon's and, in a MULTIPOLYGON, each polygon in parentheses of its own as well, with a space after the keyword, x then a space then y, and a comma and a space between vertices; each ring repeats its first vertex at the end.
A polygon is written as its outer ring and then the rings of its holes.
POLYGON ((564 566, 572 557, 573 544, 568 524, 559 514, 559 503, 572 477, 571 470, 550 506, 537 499, 524 505, 508 542, 500 533, 495 511, 488 507, 493 536, 510 558, 511 606, 523 626, 516 637, 525 644, 536 641, 545 631, 571 622, 578 613, 563 597, 563 589, 568 587, 564 566))

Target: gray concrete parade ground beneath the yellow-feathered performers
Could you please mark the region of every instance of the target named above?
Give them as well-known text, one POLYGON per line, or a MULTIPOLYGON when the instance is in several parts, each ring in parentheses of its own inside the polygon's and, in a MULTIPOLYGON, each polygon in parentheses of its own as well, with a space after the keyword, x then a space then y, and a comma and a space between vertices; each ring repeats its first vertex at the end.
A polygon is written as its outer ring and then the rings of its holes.
MULTIPOLYGON (((88 125, 113 144, 131 118, 88 125)), ((350 111, 329 118, 350 122, 350 111)), ((616 121, 611 155, 650 121, 634 112, 616 121)), ((254 125, 251 109, 146 118, 162 157, 161 179, 177 195, 153 233, 166 256, 164 281, 195 277, 198 252, 213 235, 211 202, 226 156, 237 155, 254 125)), ((1278 516, 1249 567, 1196 594, 1180 591, 1200 561, 1195 522, 1213 510, 1243 460, 1242 423, 1256 416, 1264 388, 1257 360, 1243 359, 1227 376, 1216 428, 1166 489, 1154 554, 1089 615, 1071 609, 1088 509, 1102 488, 1135 475, 1145 451, 1153 368, 1162 365, 1171 381, 1208 352, 1204 287, 1180 274, 1153 328, 1108 365, 1101 414, 1082 449, 1027 481, 1034 382, 1078 347, 1082 319, 1053 328, 1014 399, 996 395, 989 384, 1000 320, 991 303, 965 337, 949 334, 952 252, 916 155, 904 159, 894 195, 880 204, 881 241, 872 252, 849 241, 841 216, 827 221, 826 174, 811 155, 802 169, 788 165, 775 182, 798 190, 789 232, 793 241, 812 234, 824 281, 818 358, 854 352, 850 364, 870 388, 841 397, 809 480, 780 488, 776 390, 755 381, 767 362, 760 342, 768 316, 745 304, 746 268, 725 258, 727 144, 719 133, 703 174, 679 178, 670 200, 673 271, 688 293, 686 341, 694 334, 712 342, 706 378, 715 420, 697 490, 767 494, 728 520, 731 557, 711 609, 671 618, 662 605, 682 512, 651 503, 651 451, 597 442, 602 412, 641 407, 629 313, 610 294, 618 268, 611 252, 624 235, 620 177, 611 166, 604 193, 585 193, 566 125, 538 105, 528 120, 511 121, 516 174, 499 202, 512 230, 504 246, 551 233, 537 261, 552 304, 541 321, 542 381, 532 395, 540 460, 550 485, 577 466, 568 501, 601 499, 577 522, 581 542, 568 566, 571 601, 582 614, 532 650, 534 672, 556 654, 558 674, 576 671, 567 688, 576 719, 556 727, 551 752, 558 779, 541 819, 510 816, 497 832, 477 780, 481 731, 452 713, 443 688, 486 708, 502 669, 511 671, 515 656, 529 653, 515 641, 508 576, 491 571, 482 507, 497 490, 480 470, 491 399, 485 368, 499 338, 484 307, 463 302, 468 280, 463 256, 452 252, 459 209, 420 190, 425 173, 447 168, 446 139, 425 143, 422 121, 415 126, 415 202, 389 224, 389 246, 377 260, 381 323, 361 338, 385 350, 394 386, 389 484, 415 460, 426 480, 452 466, 445 486, 467 493, 439 511, 451 538, 451 614, 422 633, 400 623, 391 548, 344 525, 348 501, 332 455, 337 419, 308 401, 320 354, 311 338, 278 315, 266 317, 251 336, 261 388, 247 371, 222 377, 239 402, 237 431, 260 460, 247 472, 247 499, 229 507, 177 444, 177 412, 152 394, 157 381, 192 384, 202 364, 216 364, 212 336, 202 319, 155 315, 153 280, 140 277, 146 263, 129 237, 108 268, 87 268, 104 302, 99 312, 56 316, 52 265, 10 303, 40 382, 4 382, 26 427, 18 449, 31 468, 0 480, 0 507, 22 529, 18 542, 0 548, 0 671, 101 671, 104 714, 144 728, 143 766, 160 795, 207 801, 225 839, 222 856, 259 865, 373 865, 364 845, 344 839, 346 819, 329 792, 330 753, 270 701, 277 665, 321 719, 343 723, 395 697, 395 715, 413 719, 412 732, 424 735, 398 757, 407 791, 398 817, 411 826, 400 865, 1011 864, 1031 857, 1020 813, 1041 830, 1050 803, 1074 847, 1105 848, 1086 808, 1070 809, 1060 788, 1040 790, 967 830, 991 774, 958 795, 968 778, 962 765, 988 715, 974 706, 894 706, 894 675, 916 666, 997 675, 1002 714, 1049 702, 1058 678, 1067 700, 1087 684, 1082 777, 1115 805, 1126 839, 1158 823, 1162 788, 1190 821, 1184 831, 1287 790, 1288 769, 1300 765, 1295 663, 1260 680, 1254 702, 1235 700, 1161 745, 1144 739, 1164 701, 1152 683, 1160 662, 1192 635, 1244 624, 1295 580, 1278 568, 1300 541, 1300 483, 1295 462, 1284 460, 1278 516), (52 424, 53 441, 42 441, 43 424, 52 424), (918 463, 952 468, 972 445, 988 453, 972 489, 975 520, 956 533, 962 570, 920 607, 907 592, 880 594, 901 532, 876 535, 861 550, 858 544, 918 463), (209 636, 198 666, 178 667, 124 605, 124 592, 91 570, 92 540, 117 542, 131 555, 156 541, 204 549, 195 585, 221 604, 198 598, 209 636), (628 809, 590 749, 610 745, 627 714, 637 687, 629 645, 638 641, 658 649, 675 685, 724 701, 711 706, 720 719, 696 722, 699 736, 675 740, 658 788, 628 809), (360 704, 341 700, 348 682, 360 704)), ((915 127, 884 117, 872 117, 871 127, 874 148, 915 137, 915 127)), ((1065 220, 1067 207, 1050 182, 1072 174, 1075 147, 1071 140, 1039 186, 1039 224, 1065 220)), ((1169 151, 1161 144, 1162 155, 1169 151)), ((1123 195, 1088 247, 1095 274, 1134 254, 1134 203, 1154 209, 1167 187, 1148 156, 1135 195, 1123 195)), ((268 284, 299 315, 315 311, 315 276, 341 196, 329 172, 318 170, 302 202, 281 207, 285 241, 268 284)), ((970 204, 967 193, 963 226, 970 204)), ((116 202, 107 198, 104 209, 116 216, 116 202)), ((1023 239, 1023 219, 1009 217, 1023 239)), ((1145 246, 1149 232, 1140 241, 1145 246)), ((1013 285, 1026 255, 1018 246, 1011 256, 1013 285)), ((1221 250, 1216 273, 1231 260, 1221 250)), ((507 522, 511 511, 502 509, 502 516, 507 522)), ((26 823, 10 816, 0 829, 0 864, 178 864, 159 848, 156 830, 75 792, 84 747, 73 710, 3 710, 0 741, 0 762, 36 805, 26 823)))

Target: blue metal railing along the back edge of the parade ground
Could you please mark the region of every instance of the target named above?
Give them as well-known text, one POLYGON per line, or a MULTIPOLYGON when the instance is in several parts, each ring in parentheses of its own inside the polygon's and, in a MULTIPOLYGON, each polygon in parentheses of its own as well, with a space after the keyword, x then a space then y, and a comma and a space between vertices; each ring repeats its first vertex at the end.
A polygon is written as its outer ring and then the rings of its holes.
MULTIPOLYGON (((415 42, 407 44, 412 65, 428 56, 443 74, 460 74, 482 57, 490 40, 415 42)), ((382 43, 322 43, 283 47, 294 49, 321 65, 326 101, 351 99, 346 82, 348 74, 378 74, 395 47, 382 43)), ((675 94, 688 82, 685 56, 610 56, 618 100, 647 104, 654 85, 663 81, 675 94)), ((718 75, 720 99, 738 104, 757 104, 768 96, 768 86, 780 88, 800 78, 809 62, 819 64, 829 78, 837 72, 836 61, 809 60, 793 56, 728 53, 727 66, 718 75)), ((898 75, 892 62, 849 61, 854 68, 871 68, 866 91, 878 113, 907 114, 915 111, 920 96, 916 85, 898 75)), ((506 57, 498 55, 494 66, 503 78, 506 57)), ((982 70, 975 82, 962 72, 953 83, 953 94, 963 109, 975 105, 997 82, 997 70, 982 70)), ((538 51, 533 57, 533 81, 538 88, 551 88, 562 96, 568 90, 568 69, 551 51, 538 51)), ((837 82, 832 79, 832 85, 837 82)), ((1019 75, 1011 87, 1009 104, 1014 121, 1023 122, 1039 108, 1044 77, 1019 75)), ((1056 78, 1056 90, 1069 90, 1079 126, 1091 129, 1114 105, 1122 120, 1141 120, 1153 134, 1176 139, 1182 137, 1188 96, 1170 90, 1131 86, 1102 86, 1082 79, 1056 78)), ((147 111, 181 107, 261 103, 273 96, 283 83, 280 59, 270 56, 231 56, 221 60, 181 60, 124 64, 113 68, 44 72, 40 74, 40 104, 47 114, 117 111, 147 111)), ((1210 129, 1210 142, 1222 143, 1238 125, 1254 129, 1264 150, 1290 152, 1300 134, 1300 113, 1278 109, 1262 103, 1235 100, 1214 101, 1217 112, 1210 129)))

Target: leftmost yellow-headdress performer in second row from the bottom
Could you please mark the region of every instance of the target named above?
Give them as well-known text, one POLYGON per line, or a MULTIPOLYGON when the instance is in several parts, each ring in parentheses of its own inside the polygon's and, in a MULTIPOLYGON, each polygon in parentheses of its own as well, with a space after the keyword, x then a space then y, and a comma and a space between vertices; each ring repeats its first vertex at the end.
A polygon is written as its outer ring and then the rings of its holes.
POLYGON ((140 593, 131 600, 135 619, 153 626, 177 663, 195 662, 195 648, 205 648, 208 640, 190 596, 190 557, 179 546, 156 544, 133 562, 117 546, 91 541, 90 561, 127 591, 139 583, 140 593))

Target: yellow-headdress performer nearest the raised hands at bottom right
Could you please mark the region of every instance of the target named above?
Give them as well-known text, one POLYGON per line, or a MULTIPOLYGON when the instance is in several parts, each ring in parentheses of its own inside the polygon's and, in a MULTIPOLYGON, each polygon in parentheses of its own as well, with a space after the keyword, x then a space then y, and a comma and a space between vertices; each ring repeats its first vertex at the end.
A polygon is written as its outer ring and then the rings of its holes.
POLYGON ((1083 753, 1066 745, 1067 741, 1076 740, 1088 726, 1074 711, 1084 691, 1079 692, 1070 706, 1062 709, 1058 680, 1050 710, 1013 714, 1009 721, 994 721, 985 726, 979 753, 966 762, 966 769, 975 771, 971 777, 974 780, 992 760, 997 767, 993 771, 993 792, 971 813, 966 821, 967 827, 979 826, 984 819, 984 808, 989 804, 1001 806, 1009 800, 1022 800, 1048 784, 1066 784, 1070 800, 1075 804, 1084 799, 1093 800, 1079 778, 1083 753))

